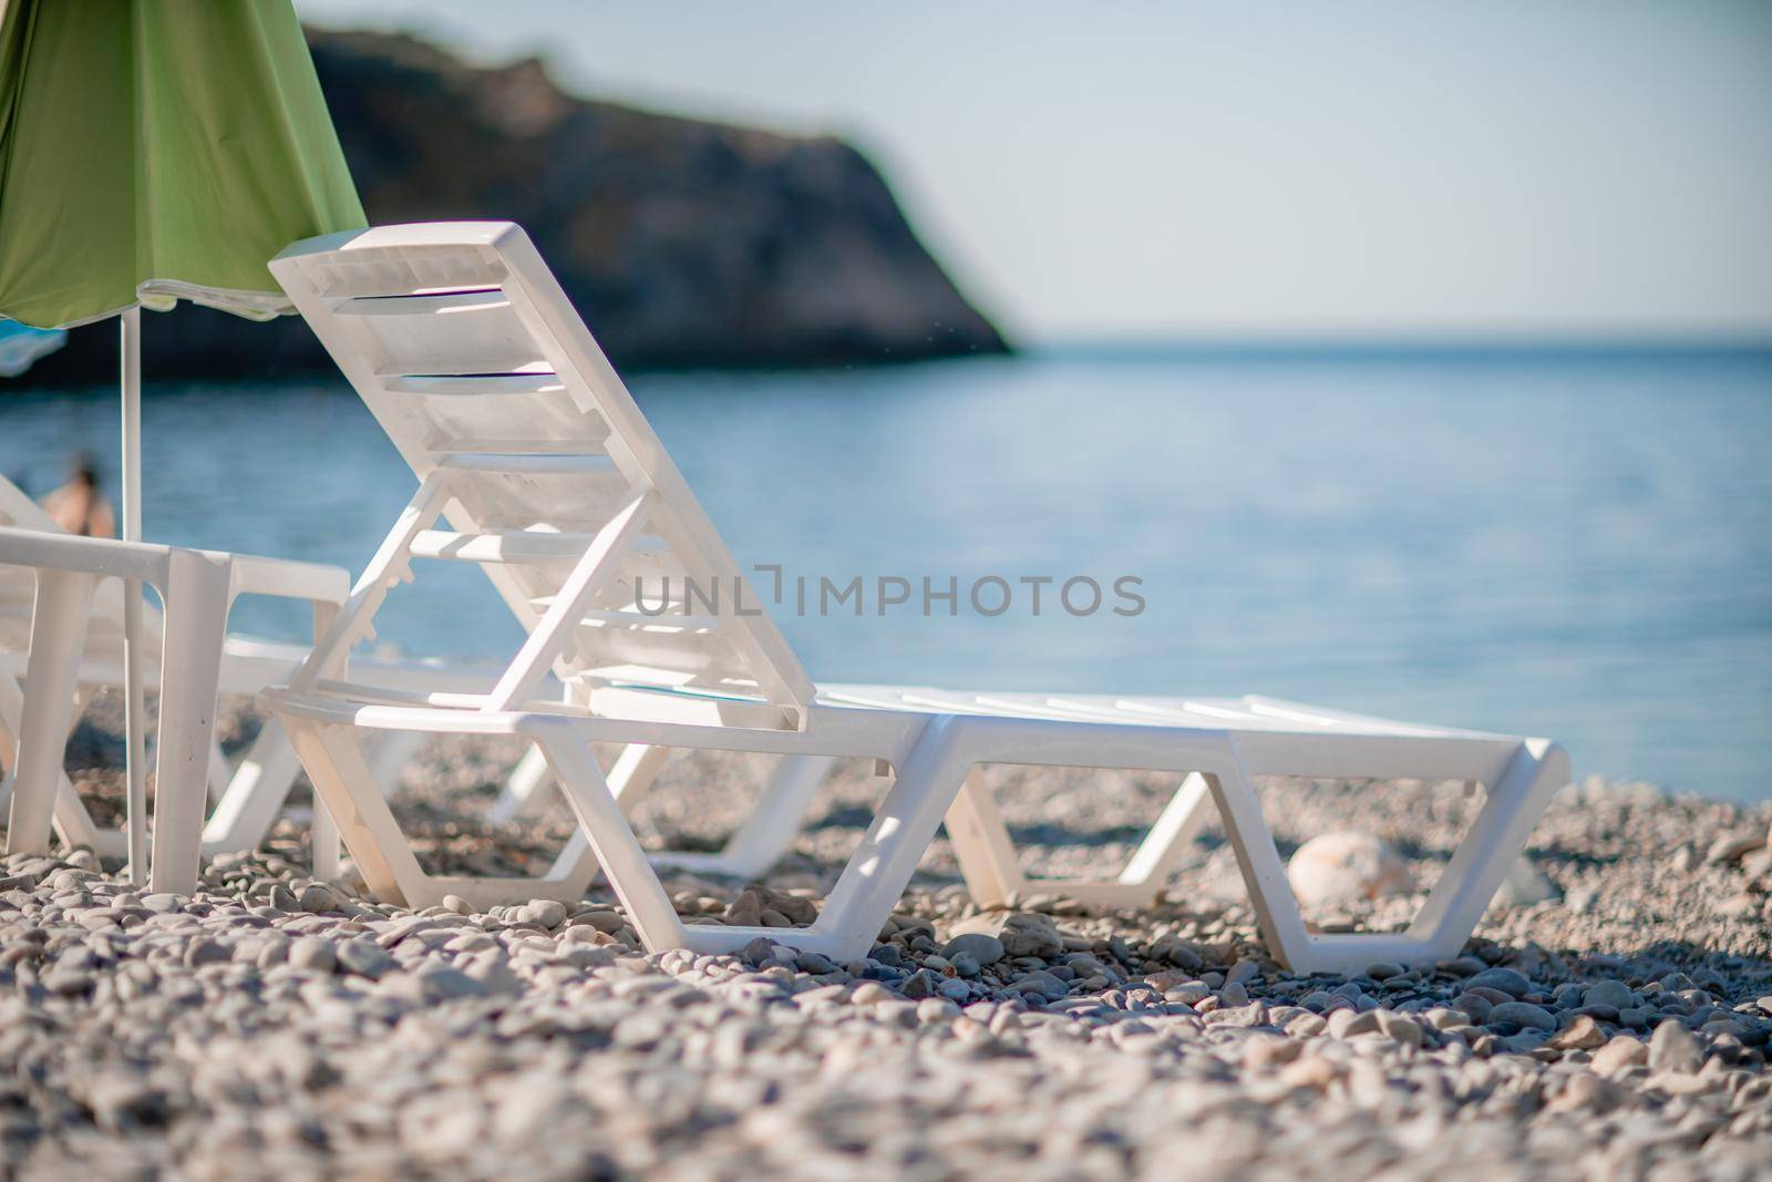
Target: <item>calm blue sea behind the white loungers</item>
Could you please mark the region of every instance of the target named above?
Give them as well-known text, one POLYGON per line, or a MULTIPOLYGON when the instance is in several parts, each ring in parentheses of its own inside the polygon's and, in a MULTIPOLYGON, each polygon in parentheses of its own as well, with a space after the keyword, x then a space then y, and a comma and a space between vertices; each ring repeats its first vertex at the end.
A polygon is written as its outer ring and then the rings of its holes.
MULTIPOLYGON (((1136 618, 1051 592, 1040 617, 781 615, 819 679, 1260 691, 1772 796, 1772 354, 1076 353, 634 392, 744 565, 1143 579, 1136 618)), ((4 397, 0 471, 41 494, 69 448, 115 454, 115 415, 4 397)), ((413 487, 342 383, 151 386, 144 420, 154 540, 354 571, 413 487)), ((471 571, 397 608, 381 640, 409 652, 517 643, 471 571)))

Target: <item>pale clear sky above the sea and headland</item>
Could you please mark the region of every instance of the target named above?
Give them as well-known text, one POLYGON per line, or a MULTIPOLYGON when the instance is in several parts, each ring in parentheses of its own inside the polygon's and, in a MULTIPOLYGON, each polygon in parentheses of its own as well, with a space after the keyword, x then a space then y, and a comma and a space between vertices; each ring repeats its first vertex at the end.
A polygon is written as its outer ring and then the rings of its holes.
POLYGON ((1022 342, 1772 340, 1772 4, 296 9, 842 135, 1022 342))

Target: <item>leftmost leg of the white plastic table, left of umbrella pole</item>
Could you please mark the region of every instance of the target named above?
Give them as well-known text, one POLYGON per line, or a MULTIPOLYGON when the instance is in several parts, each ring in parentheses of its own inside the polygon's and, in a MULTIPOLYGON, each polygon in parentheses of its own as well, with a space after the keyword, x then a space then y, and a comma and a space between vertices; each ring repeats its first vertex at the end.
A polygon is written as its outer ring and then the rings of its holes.
POLYGON ((30 620, 30 661, 19 711, 18 767, 7 852, 50 851, 50 822, 73 725, 76 672, 87 634, 94 578, 67 571, 37 571, 37 601, 30 620))

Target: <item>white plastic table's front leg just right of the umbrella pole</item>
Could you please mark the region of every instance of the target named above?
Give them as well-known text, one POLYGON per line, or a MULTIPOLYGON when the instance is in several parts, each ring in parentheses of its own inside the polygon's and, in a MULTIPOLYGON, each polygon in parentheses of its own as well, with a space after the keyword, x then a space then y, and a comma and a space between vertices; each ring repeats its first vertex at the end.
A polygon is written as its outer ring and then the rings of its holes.
POLYGON ((216 675, 227 631, 227 565, 172 551, 167 576, 167 643, 159 675, 159 750, 154 760, 154 891, 197 890, 216 675))

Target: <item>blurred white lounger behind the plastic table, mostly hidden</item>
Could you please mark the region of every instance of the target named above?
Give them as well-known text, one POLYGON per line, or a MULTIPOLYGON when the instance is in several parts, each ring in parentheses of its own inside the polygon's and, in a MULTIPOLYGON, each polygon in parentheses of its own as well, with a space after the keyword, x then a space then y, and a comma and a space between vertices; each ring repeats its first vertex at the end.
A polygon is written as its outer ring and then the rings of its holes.
MULTIPOLYGON (((35 502, 4 477, 0 477, 0 526, 37 530, 57 537, 64 535, 60 526, 35 502)), ((307 576, 321 569, 315 564, 257 562, 264 571, 273 574, 280 569, 289 569, 307 576)), ((324 571, 330 576, 337 576, 340 588, 349 585, 346 571, 338 567, 326 567, 324 571)), ((0 564, 0 764, 9 773, 0 782, 0 806, 5 806, 12 792, 11 771, 16 762, 25 695, 28 691, 23 680, 30 650, 35 595, 37 578, 28 567, 0 564)), ((92 590, 83 626, 82 657, 74 670, 76 688, 74 705, 69 714, 71 721, 78 721, 82 711, 99 689, 120 689, 124 686, 122 633, 122 583, 119 579, 101 579, 92 590)), ((165 622, 159 611, 149 604, 142 608, 142 634, 147 647, 144 661, 145 688, 158 689, 163 665, 161 638, 165 636, 165 622)), ((216 691, 222 695, 255 696, 266 686, 287 684, 307 656, 307 645, 229 634, 222 647, 216 691)), ((496 679, 498 670, 372 659, 360 665, 360 673, 383 686, 447 686, 473 691, 489 686, 496 679)), ((411 748, 413 743, 406 735, 388 735, 386 741, 379 741, 376 744, 377 771, 383 774, 397 771, 406 762, 411 748)), ((202 831, 202 854, 213 858, 220 852, 253 849, 269 833, 271 824, 289 799, 289 790, 301 774, 301 762, 296 758, 294 748, 284 737, 282 725, 276 719, 266 719, 252 746, 243 753, 237 767, 229 767, 227 757, 214 743, 209 744, 207 758, 211 808, 202 831)), ((516 782, 507 792, 521 792, 525 787, 523 782, 516 782)), ((105 858, 122 858, 128 854, 128 829, 101 826, 94 820, 66 773, 57 778, 55 833, 69 849, 87 847, 105 858)), ((326 854, 321 852, 319 858, 321 870, 330 872, 331 863, 326 859, 326 854)))

